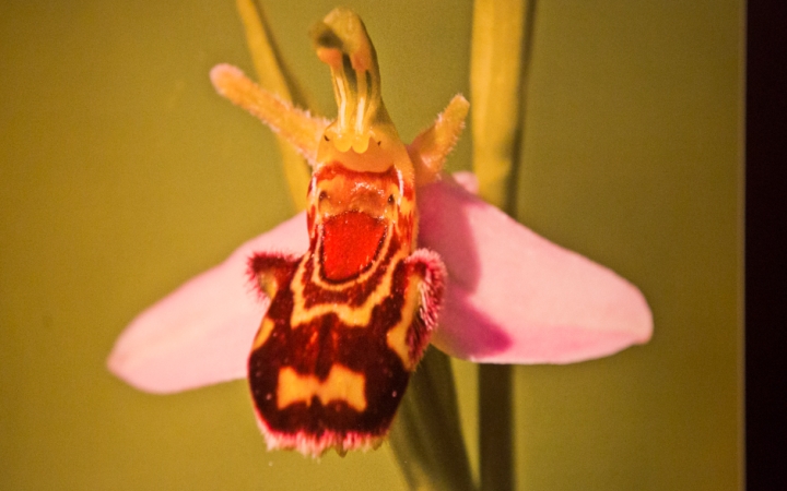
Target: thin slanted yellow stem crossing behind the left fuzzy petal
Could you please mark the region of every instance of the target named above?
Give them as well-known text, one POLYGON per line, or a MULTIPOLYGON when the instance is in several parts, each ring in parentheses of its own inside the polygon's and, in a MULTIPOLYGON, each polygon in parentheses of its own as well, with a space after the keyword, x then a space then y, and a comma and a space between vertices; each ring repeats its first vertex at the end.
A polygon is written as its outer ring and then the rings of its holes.
MULTIPOLYGON (((236 3, 246 31, 246 43, 260 87, 277 94, 282 100, 292 103, 291 87, 284 69, 279 62, 270 33, 268 33, 263 12, 254 0, 237 0, 236 3)), ((290 187, 290 195, 296 208, 303 211, 306 208, 306 189, 310 178, 308 166, 286 139, 277 135, 277 140, 279 141, 279 152, 282 155, 284 177, 290 187)))

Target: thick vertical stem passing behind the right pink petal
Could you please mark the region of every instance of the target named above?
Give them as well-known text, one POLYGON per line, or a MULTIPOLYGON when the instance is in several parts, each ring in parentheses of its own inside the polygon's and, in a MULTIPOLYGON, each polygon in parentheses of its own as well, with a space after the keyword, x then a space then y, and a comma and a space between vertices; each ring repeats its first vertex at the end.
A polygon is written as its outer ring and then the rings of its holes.
MULTIPOLYGON (((473 170, 479 194, 513 212, 512 176, 521 129, 522 47, 526 0, 475 0, 470 93, 473 170)), ((479 367, 479 469, 482 491, 514 489, 513 370, 479 367)))

